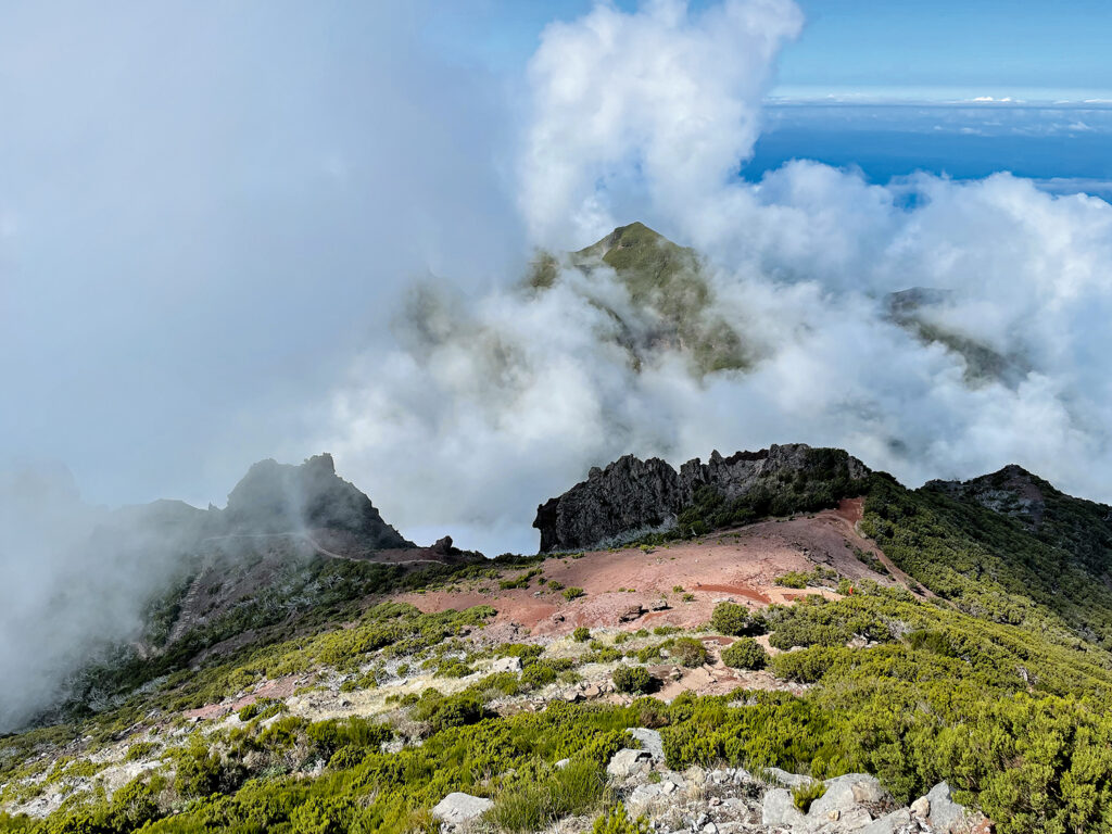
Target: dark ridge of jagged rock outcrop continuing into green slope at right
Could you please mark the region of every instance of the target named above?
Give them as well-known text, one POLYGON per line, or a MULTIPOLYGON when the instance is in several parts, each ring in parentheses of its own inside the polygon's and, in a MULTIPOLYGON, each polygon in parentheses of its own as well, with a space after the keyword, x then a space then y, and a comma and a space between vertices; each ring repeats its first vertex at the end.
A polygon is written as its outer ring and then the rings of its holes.
POLYGON ((717 451, 677 471, 625 456, 537 508, 544 553, 663 543, 862 497, 861 529, 957 608, 1112 648, 1112 508, 1019 466, 907 489, 841 449, 717 451))

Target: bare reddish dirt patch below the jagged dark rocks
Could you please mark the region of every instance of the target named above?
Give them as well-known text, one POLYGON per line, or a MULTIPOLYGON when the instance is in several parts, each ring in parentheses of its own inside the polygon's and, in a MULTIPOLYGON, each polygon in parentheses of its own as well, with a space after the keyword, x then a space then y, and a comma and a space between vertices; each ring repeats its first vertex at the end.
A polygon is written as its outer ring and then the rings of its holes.
MULTIPOLYGON (((466 586, 399 599, 425 612, 492 605, 498 624, 515 624, 534 635, 566 634, 577 626, 636 629, 645 625, 694 627, 707 622, 723 599, 753 608, 787 603, 807 594, 836 598, 828 588, 790 589, 775 585, 788 570, 806 572, 822 565, 853 579, 892 579, 871 570, 854 556, 854 547, 883 557, 855 529, 862 502, 843 502, 837 509, 810 517, 773 519, 734 530, 723 530, 695 542, 671 546, 599 550, 578 559, 548 558, 543 575, 563 587, 580 587, 586 594, 568 602, 536 579, 528 588, 500 589, 497 582, 471 582, 466 586), (652 610, 654 607, 667 607, 652 610), (643 613, 638 613, 638 608, 643 613)), ((886 563, 888 566, 888 563, 886 563)), ((897 580, 903 574, 888 566, 897 580)), ((514 576, 524 570, 507 572, 514 576)))

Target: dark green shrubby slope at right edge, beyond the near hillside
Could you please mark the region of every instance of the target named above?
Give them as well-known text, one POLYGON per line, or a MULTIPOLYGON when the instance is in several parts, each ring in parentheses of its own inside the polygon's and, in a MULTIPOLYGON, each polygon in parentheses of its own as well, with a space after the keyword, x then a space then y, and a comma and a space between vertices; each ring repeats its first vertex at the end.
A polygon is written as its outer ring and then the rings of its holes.
POLYGON ((1112 510, 1007 467, 907 490, 874 476, 862 529, 962 610, 1112 647, 1112 510))

